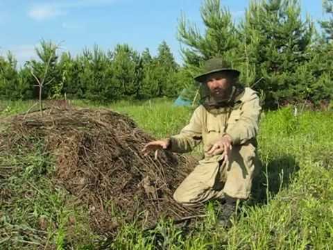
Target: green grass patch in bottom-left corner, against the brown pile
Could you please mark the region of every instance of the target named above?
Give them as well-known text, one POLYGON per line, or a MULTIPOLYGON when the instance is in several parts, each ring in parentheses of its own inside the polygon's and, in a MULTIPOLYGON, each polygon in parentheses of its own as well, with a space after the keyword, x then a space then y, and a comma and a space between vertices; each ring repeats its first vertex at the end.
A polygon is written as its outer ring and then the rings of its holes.
POLYGON ((85 208, 77 208, 74 197, 51 181, 53 159, 42 142, 32 149, 17 148, 12 156, 1 152, 0 160, 1 176, 6 176, 0 182, 0 249, 62 249, 73 238, 77 246, 91 242, 93 235, 83 226, 85 208))

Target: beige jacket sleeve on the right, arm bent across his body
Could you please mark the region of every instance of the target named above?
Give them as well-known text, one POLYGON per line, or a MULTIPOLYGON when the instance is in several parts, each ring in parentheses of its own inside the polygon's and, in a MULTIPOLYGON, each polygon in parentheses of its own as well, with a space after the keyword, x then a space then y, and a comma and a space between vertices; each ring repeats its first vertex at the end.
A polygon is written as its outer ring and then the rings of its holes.
POLYGON ((227 134, 232 138, 232 144, 245 144, 257 136, 261 110, 259 97, 253 91, 241 107, 239 120, 227 131, 227 134))

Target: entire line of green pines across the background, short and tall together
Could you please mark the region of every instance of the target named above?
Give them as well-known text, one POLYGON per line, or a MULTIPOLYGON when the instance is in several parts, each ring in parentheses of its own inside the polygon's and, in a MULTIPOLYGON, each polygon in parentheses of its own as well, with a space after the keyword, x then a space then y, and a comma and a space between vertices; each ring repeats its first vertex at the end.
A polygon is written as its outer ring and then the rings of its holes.
MULTIPOLYGON (((320 4, 320 3, 316 3, 320 4)), ((113 51, 85 49, 78 56, 58 55, 57 45, 42 41, 39 60, 20 69, 11 53, 0 57, 0 98, 37 97, 36 79, 44 76, 44 98, 112 101, 130 97, 193 99, 198 85, 193 76, 203 62, 221 56, 241 71, 240 83, 257 90, 267 108, 286 103, 330 101, 333 96, 333 0, 324 0, 327 19, 318 25, 303 18, 300 0, 251 0, 237 22, 220 0, 205 0, 200 8, 204 28, 182 15, 178 24, 183 65, 178 65, 166 42, 157 56, 128 44, 113 51), (47 74, 45 74, 47 69, 47 74)))

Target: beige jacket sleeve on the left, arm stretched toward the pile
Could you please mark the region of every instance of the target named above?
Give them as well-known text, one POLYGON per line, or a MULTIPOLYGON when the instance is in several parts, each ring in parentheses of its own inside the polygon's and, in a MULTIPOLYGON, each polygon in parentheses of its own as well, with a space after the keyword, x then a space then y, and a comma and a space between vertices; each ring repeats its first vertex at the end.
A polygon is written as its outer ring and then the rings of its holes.
POLYGON ((182 128, 178 135, 173 135, 170 140, 169 150, 176 153, 187 153, 194 149, 202 140, 202 122, 200 112, 202 107, 196 108, 189 124, 182 128))

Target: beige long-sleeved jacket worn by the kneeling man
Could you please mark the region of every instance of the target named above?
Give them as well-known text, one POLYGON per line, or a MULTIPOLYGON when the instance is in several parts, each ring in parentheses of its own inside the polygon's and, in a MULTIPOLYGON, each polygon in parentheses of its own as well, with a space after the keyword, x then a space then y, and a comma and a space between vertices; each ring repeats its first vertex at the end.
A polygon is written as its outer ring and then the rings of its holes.
MULTIPOLYGON (((202 105, 198 106, 189 124, 178 135, 171 136, 169 149, 185 153, 203 142, 206 152, 225 134, 230 135, 233 145, 252 143, 256 146, 255 137, 261 109, 257 92, 250 88, 245 88, 244 94, 233 108, 221 108, 219 115, 208 112, 202 105)), ((205 158, 210 157, 205 153, 205 158)))

